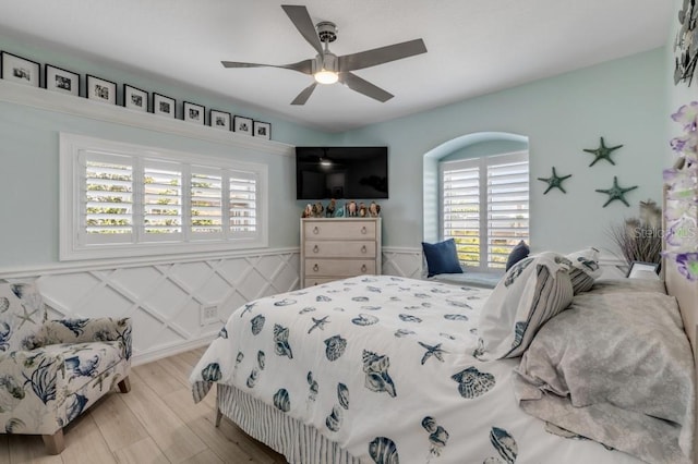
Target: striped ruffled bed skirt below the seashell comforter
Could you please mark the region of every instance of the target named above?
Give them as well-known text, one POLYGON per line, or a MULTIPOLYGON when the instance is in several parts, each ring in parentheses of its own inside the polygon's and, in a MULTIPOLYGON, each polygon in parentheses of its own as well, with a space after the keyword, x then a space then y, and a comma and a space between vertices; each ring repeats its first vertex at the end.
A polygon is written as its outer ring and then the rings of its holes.
POLYGON ((245 434, 278 451, 289 463, 361 464, 314 427, 288 416, 234 387, 217 384, 218 411, 245 434))

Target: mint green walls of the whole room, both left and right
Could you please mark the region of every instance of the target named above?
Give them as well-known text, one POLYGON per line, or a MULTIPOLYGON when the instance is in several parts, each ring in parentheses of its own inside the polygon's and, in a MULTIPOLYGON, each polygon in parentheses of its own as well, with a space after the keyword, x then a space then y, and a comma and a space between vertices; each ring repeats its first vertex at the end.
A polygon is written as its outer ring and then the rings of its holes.
MULTIPOLYGON (((639 200, 660 200, 661 176, 657 173, 664 163, 667 127, 665 48, 361 130, 326 134, 196 87, 104 64, 98 58, 71 56, 50 45, 24 45, 2 34, 0 42, 3 50, 83 76, 92 73, 119 84, 157 90, 180 102, 185 99, 268 121, 273 124, 273 139, 287 144, 388 145, 390 199, 381 202, 386 246, 417 247, 423 237, 424 155, 457 137, 480 132, 528 137, 534 249, 610 247, 604 233, 609 223, 635 215, 639 200), (609 145, 625 145, 614 155, 617 166, 600 161, 588 168, 593 157, 582 148, 595 148, 600 136, 609 145), (545 184, 535 178, 549 176, 552 166, 559 174, 574 174, 565 182, 567 195, 555 191, 543 196, 545 184), (631 208, 617 202, 601 207, 606 196, 593 190, 609 188, 614 174, 623 186, 639 185, 627 196, 631 208)), ((52 264, 58 259, 60 131, 267 162, 272 197, 269 245, 298 246, 302 205, 293 199, 293 160, 288 157, 260 157, 215 143, 0 103, 0 211, 12 218, 0 228, 0 268, 52 264)))

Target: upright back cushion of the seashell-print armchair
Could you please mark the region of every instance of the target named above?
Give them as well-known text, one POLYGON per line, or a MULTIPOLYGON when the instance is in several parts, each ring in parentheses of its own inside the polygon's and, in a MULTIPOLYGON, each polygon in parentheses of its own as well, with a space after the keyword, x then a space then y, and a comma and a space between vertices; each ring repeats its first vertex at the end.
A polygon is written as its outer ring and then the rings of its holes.
POLYGON ((46 318, 44 300, 32 283, 0 283, 0 352, 32 347, 46 318))

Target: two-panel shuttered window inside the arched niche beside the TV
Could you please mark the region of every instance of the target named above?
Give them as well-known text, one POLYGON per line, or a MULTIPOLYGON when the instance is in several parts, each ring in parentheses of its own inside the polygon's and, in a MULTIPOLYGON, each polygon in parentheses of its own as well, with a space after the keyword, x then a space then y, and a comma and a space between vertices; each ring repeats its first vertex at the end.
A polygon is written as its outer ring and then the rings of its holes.
POLYGON ((504 268, 529 242, 528 152, 441 163, 442 232, 456 241, 464 266, 504 268))

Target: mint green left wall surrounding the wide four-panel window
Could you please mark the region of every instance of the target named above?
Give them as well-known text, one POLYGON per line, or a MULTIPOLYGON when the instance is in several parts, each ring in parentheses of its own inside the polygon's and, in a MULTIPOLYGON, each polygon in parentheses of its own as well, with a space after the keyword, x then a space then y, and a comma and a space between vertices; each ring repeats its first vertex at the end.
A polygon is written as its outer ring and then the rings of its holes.
MULTIPOLYGON (((119 84, 128 83, 188 100, 272 123, 272 138, 290 145, 329 144, 333 136, 299 124, 267 117, 203 90, 159 83, 153 76, 97 65, 96 61, 56 53, 49 49, 13 42, 0 35, 2 50, 80 73, 92 73, 119 84)), ((153 117, 157 118, 157 117, 153 117)), ((294 160, 133 126, 76 115, 0 102, 0 269, 50 265, 58 261, 59 240, 59 133, 70 132, 111 141, 168 148, 178 151, 263 162, 268 166, 269 246, 298 246, 300 209, 296 195, 294 160)))

